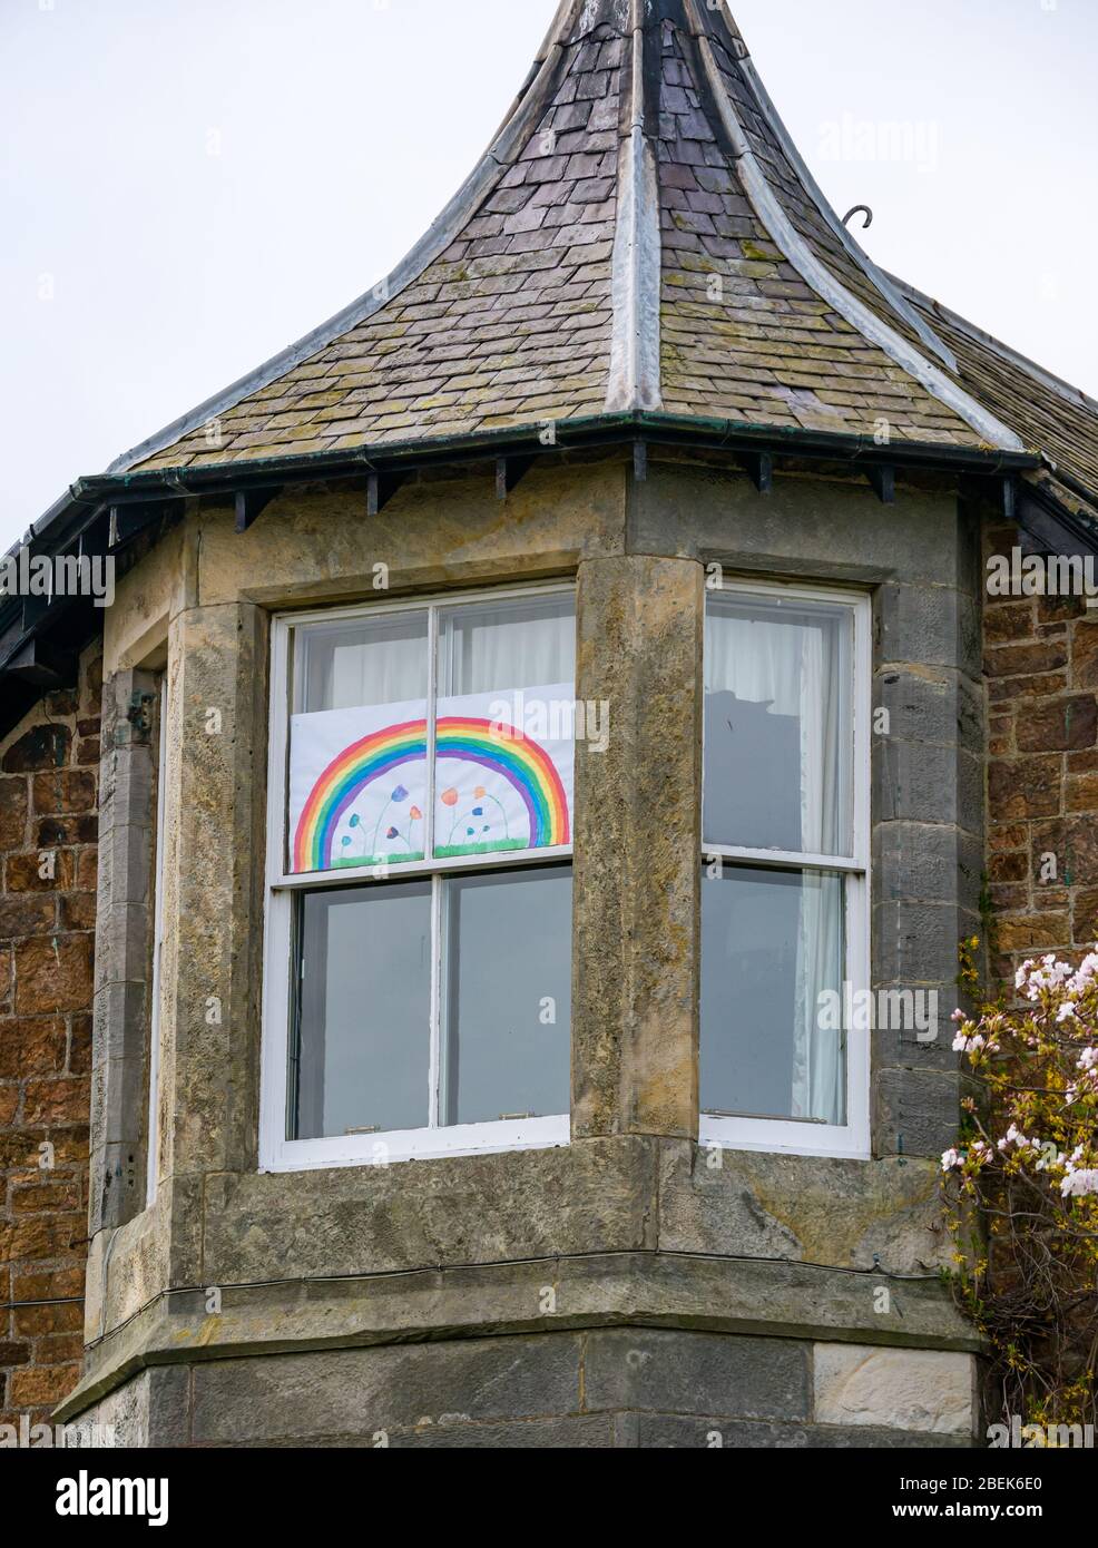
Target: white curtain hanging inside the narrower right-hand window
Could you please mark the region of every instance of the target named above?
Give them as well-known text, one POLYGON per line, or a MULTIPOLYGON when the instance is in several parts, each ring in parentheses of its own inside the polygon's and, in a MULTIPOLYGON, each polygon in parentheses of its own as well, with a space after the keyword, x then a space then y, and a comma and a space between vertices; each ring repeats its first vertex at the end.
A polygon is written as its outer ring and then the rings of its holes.
MULTIPOLYGON (((714 610, 706 639, 711 690, 770 704, 771 715, 799 721, 801 851, 841 853, 849 842, 846 745, 850 712, 849 615, 779 613, 751 605, 739 616, 714 610)), ((733 797, 734 799, 734 794, 733 797)), ((750 841, 748 841, 750 844, 750 841)), ((819 995, 841 991, 842 882, 835 875, 802 873, 798 943, 793 1118, 844 1121, 842 1033, 821 1029, 819 995)))

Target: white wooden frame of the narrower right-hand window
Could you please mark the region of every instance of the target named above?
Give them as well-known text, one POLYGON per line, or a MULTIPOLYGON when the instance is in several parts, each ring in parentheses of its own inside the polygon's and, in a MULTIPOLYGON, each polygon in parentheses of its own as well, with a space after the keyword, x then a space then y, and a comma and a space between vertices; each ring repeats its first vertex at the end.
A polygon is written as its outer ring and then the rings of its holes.
MULTIPOLYGON (((873 712, 872 599, 866 591, 779 580, 725 579, 715 596, 745 599, 785 598, 790 602, 830 602, 853 615, 850 706, 853 714, 853 783, 850 858, 798 854, 787 850, 754 850, 706 844, 702 816, 702 861, 720 856, 734 864, 760 862, 776 870, 821 870, 846 879, 846 960, 842 977, 856 988, 870 988, 870 726, 873 712)), ((709 593, 706 593, 706 608, 709 593)), ((702 807, 705 810, 705 793, 702 807)), ((785 1118, 698 1115, 698 1142, 728 1150, 770 1150, 784 1155, 846 1156, 869 1159, 870 1149, 870 1034, 846 1031, 847 1121, 818 1124, 785 1118)))

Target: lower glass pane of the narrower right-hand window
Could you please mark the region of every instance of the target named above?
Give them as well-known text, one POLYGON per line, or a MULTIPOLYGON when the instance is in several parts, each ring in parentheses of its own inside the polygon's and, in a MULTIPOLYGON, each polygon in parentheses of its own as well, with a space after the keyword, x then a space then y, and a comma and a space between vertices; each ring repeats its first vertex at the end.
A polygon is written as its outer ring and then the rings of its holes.
POLYGON ((709 870, 702 882, 702 1110, 846 1122, 842 878, 709 870))

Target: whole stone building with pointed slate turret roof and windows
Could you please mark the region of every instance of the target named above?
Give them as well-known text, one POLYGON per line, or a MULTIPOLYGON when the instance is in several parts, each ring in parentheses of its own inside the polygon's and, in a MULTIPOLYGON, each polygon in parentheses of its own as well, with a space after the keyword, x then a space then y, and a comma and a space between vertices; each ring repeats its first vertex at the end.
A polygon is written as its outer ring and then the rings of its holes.
POLYGON ((36 523, 113 605, 2 604, 3 1423, 973 1444, 957 943, 1098 916, 1098 621, 985 567, 1092 554, 1096 426, 723 6, 564 0, 387 282, 36 523))

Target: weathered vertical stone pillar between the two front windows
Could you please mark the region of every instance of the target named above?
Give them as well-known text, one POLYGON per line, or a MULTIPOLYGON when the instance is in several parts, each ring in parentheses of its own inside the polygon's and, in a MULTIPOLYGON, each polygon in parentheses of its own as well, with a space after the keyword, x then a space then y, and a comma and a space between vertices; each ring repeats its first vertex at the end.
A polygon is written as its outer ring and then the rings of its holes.
POLYGON ((581 563, 573 1136, 697 1136, 702 567, 581 563))

